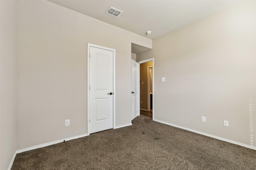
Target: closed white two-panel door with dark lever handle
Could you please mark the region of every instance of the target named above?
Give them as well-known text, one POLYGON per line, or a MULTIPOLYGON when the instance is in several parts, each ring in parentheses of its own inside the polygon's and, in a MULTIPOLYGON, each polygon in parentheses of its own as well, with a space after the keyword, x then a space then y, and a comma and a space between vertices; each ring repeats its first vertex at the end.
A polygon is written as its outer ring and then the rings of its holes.
POLYGON ((113 51, 90 47, 90 133, 113 128, 113 51))

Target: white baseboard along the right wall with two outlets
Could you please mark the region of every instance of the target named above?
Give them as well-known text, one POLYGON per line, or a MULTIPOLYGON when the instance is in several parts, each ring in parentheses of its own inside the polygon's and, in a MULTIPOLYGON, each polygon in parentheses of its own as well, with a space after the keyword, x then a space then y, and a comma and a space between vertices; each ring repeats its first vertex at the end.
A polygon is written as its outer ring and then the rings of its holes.
POLYGON ((219 140, 221 140, 221 141, 226 141, 226 142, 229 142, 229 143, 233 143, 233 144, 235 144, 235 145, 239 145, 239 146, 242 146, 242 147, 246 147, 246 148, 250 148, 250 149, 256 150, 256 147, 253 147, 253 146, 250 146, 250 145, 245 145, 245 144, 242 144, 242 143, 238 143, 238 142, 231 141, 231 140, 228 140, 228 139, 224 139, 224 138, 221 138, 221 137, 217 137, 217 136, 214 136, 214 135, 209 135, 209 134, 207 134, 207 133, 203 133, 203 132, 200 132, 200 131, 195 131, 195 130, 192 130, 192 129, 188 129, 188 128, 186 128, 186 127, 174 125, 174 124, 167 123, 167 122, 164 122, 164 121, 160 121, 160 120, 156 120, 156 119, 154 119, 154 121, 157 121, 157 122, 159 122, 159 123, 164 123, 164 124, 166 124, 166 125, 178 127, 178 128, 180 128, 180 129, 184 129, 184 130, 187 130, 187 131, 191 131, 191 132, 194 132, 194 133, 198 133, 198 134, 201 134, 201 135, 204 135, 204 136, 208 136, 208 137, 212 137, 212 138, 215 138, 215 139, 219 139, 219 140))

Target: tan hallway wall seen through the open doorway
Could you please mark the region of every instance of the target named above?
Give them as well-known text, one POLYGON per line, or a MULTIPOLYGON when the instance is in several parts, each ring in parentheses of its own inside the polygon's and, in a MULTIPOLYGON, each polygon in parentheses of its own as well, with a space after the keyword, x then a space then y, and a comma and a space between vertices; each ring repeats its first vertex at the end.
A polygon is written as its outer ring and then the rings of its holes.
POLYGON ((152 61, 140 64, 140 109, 148 110, 148 66, 152 66, 152 61))

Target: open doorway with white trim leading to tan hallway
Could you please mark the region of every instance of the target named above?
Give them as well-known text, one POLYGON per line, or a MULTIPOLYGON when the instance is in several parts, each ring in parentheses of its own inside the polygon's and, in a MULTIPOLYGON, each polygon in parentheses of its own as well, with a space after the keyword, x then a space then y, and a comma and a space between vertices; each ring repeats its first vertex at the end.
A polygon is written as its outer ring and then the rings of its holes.
POLYGON ((140 64, 140 115, 154 120, 154 58, 140 64))

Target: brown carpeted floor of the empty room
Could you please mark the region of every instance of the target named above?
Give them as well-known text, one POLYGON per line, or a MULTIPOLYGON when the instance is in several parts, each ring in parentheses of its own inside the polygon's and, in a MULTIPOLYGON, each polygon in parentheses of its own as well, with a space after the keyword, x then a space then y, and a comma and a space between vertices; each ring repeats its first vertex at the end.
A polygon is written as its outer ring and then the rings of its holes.
POLYGON ((136 117, 132 126, 17 154, 12 170, 255 170, 256 150, 136 117))

